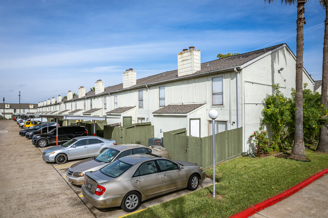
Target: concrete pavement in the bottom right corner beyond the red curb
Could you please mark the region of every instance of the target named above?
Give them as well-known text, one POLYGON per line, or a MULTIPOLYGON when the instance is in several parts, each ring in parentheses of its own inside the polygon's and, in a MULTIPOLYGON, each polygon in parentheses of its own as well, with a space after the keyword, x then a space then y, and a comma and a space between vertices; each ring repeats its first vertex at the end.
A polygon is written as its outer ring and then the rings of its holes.
POLYGON ((328 175, 324 175, 288 198, 250 218, 327 218, 328 175))

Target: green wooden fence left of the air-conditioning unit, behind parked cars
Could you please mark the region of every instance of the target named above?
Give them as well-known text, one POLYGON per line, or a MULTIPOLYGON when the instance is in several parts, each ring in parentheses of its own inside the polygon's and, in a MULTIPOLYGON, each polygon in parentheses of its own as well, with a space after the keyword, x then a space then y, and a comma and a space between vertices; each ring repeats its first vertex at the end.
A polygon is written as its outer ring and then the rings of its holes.
POLYGON ((154 126, 151 122, 134 123, 126 126, 104 126, 104 138, 111 138, 120 144, 131 144, 141 140, 141 144, 148 146, 148 138, 154 137, 154 126))

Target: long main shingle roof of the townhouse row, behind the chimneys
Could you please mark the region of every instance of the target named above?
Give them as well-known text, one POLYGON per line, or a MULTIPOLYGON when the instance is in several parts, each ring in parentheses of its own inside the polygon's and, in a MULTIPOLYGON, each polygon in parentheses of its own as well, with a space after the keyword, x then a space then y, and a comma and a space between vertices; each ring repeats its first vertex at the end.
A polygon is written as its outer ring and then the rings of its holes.
MULTIPOLYGON (((257 58, 258 56, 261 56, 262 54, 265 54, 267 52, 270 52, 271 50, 276 49, 277 47, 279 47, 281 45, 283 45, 283 44, 279 44, 279 45, 271 46, 271 47, 268 47, 265 49, 260 49, 260 50, 256 50, 256 51, 251 51, 251 52, 247 52, 247 53, 243 53, 243 54, 239 54, 239 55, 235 55, 235 56, 230 56, 230 57, 216 59, 214 61, 202 63, 201 70, 194 73, 193 75, 245 64, 245 63, 257 58)), ((179 78, 183 78, 183 77, 179 77, 179 78)), ((145 77, 142 79, 138 79, 137 84, 131 86, 130 88, 137 87, 140 85, 146 85, 146 84, 150 84, 150 83, 154 83, 154 82, 166 81, 166 80, 170 80, 170 79, 178 79, 178 70, 167 71, 164 73, 160 73, 160 74, 152 75, 152 76, 145 77)), ((105 87, 105 91, 102 93, 99 93, 99 95, 105 94, 108 92, 118 91, 121 89, 123 89, 123 83, 105 87)), ((88 98, 89 96, 93 96, 93 95, 95 95, 95 91, 87 92, 85 94, 85 96, 81 97, 81 98, 79 98, 78 95, 74 96, 73 99, 71 99, 71 100, 88 98)), ((71 100, 69 100, 69 101, 71 101, 71 100)), ((67 101, 67 99, 65 98, 62 101, 67 101)))

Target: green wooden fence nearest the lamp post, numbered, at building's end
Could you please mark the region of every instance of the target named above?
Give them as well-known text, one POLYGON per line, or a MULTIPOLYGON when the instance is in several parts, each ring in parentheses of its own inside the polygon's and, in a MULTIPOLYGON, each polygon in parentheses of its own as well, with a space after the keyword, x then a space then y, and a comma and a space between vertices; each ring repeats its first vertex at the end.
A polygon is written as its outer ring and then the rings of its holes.
MULTIPOLYGON (((172 160, 195 163, 203 168, 213 165, 212 136, 185 136, 185 128, 164 132, 164 147, 172 160), (184 131, 184 133, 183 133, 184 131)), ((242 153, 242 127, 215 134, 215 163, 242 153)))

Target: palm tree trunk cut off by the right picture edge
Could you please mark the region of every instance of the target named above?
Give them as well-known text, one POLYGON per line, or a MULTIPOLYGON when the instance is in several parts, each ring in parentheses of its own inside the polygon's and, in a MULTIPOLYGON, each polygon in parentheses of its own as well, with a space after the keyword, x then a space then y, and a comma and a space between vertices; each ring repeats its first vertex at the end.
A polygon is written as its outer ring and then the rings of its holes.
MULTIPOLYGON (((323 37, 323 60, 322 60, 322 85, 321 85, 321 104, 327 108, 327 89, 328 89, 328 1, 325 2, 326 20, 325 34, 323 37)), ((327 119, 327 117, 324 117, 327 119)), ((320 129, 319 143, 317 151, 328 152, 328 130, 327 124, 321 123, 323 126, 320 129)))

